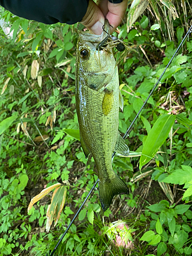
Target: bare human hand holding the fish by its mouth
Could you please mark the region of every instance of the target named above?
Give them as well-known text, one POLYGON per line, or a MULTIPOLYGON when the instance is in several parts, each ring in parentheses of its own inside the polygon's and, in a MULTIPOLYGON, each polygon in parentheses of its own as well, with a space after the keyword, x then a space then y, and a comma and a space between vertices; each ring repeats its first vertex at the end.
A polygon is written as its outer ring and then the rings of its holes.
POLYGON ((100 35, 103 31, 104 19, 108 19, 111 27, 111 33, 121 24, 127 7, 127 0, 122 3, 113 4, 108 0, 99 0, 97 4, 93 0, 89 0, 86 15, 81 22, 93 34, 100 35))

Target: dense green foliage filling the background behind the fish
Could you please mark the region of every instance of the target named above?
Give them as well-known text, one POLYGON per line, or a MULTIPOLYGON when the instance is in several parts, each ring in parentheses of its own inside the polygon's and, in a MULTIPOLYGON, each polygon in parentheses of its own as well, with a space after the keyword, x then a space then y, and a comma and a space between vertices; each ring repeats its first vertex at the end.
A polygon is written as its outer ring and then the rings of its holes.
MULTIPOLYGON (((119 63, 121 133, 134 120, 188 27, 187 2, 186 8, 176 10, 180 7, 175 2, 151 1, 153 15, 142 15, 146 3, 133 1, 127 28, 120 26, 119 34, 114 33, 137 49, 119 63), (182 15, 174 20, 177 13, 182 15)), ((13 38, 1 31, 0 256, 45 255, 97 179, 93 158, 84 157, 78 141, 75 109, 75 46, 77 29, 83 26, 44 25, 1 13, 13 38), (56 227, 46 233, 51 197, 32 207, 29 215, 27 207, 42 189, 65 180, 70 182, 66 205, 56 227)), ((114 198, 114 205, 103 213, 95 190, 58 247, 59 255, 127 255, 130 248, 137 256, 192 254, 191 52, 189 36, 126 139, 130 157, 114 157, 113 168, 130 194, 114 198), (150 175, 170 204, 162 196, 150 201, 145 198, 148 190, 139 190, 150 175), (185 202, 179 201, 181 197, 185 202)))

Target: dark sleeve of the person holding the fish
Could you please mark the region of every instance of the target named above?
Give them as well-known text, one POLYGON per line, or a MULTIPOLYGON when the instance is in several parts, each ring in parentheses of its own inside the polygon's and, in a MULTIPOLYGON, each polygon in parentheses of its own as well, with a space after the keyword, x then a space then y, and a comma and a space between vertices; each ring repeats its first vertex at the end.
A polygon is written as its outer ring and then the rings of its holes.
POLYGON ((0 0, 13 14, 45 24, 75 24, 86 14, 89 0, 0 0))

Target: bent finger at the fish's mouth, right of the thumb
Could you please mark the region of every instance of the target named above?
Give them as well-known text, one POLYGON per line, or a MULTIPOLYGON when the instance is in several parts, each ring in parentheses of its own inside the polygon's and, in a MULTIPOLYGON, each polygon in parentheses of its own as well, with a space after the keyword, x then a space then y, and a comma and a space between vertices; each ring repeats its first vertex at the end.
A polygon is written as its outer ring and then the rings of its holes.
POLYGON ((111 33, 114 32, 123 21, 126 7, 127 0, 123 0, 123 2, 119 4, 108 3, 109 12, 106 14, 106 18, 109 20, 110 25, 113 26, 113 28, 111 27, 111 33))

